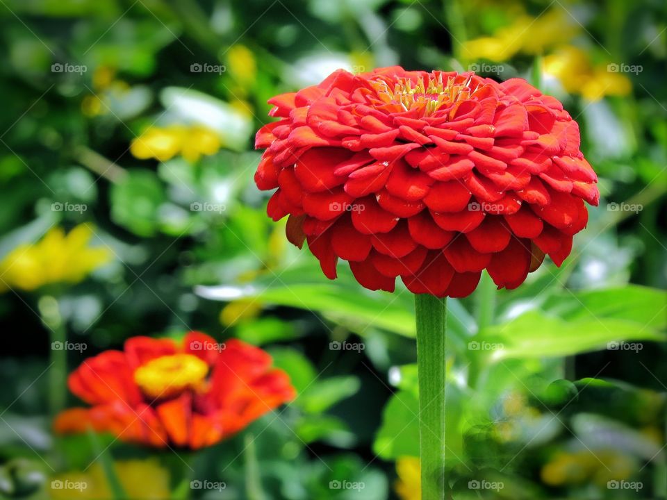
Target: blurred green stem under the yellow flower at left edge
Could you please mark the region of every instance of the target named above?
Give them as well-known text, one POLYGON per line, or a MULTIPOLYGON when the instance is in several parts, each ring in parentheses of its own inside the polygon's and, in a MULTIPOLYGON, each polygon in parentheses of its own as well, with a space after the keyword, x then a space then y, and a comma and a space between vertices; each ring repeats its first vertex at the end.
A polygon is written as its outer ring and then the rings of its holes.
POLYGON ((60 304, 55 297, 44 295, 38 301, 42 323, 49 329, 49 413, 55 416, 65 408, 67 398, 67 331, 60 304))

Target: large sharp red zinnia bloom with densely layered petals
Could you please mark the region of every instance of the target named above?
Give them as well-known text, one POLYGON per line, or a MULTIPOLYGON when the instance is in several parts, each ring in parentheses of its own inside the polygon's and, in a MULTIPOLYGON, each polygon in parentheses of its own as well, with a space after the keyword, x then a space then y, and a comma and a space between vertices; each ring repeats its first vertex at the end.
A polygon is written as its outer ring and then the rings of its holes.
POLYGON ((598 203, 577 123, 518 78, 339 70, 269 103, 255 181, 332 279, 342 258, 370 290, 464 297, 482 269, 516 288, 545 253, 561 265, 598 203))

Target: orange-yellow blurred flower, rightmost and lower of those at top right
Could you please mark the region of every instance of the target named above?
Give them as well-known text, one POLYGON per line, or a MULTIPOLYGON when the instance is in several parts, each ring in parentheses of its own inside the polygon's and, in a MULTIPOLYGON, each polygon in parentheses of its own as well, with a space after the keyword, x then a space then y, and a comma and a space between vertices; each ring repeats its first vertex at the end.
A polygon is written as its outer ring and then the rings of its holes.
POLYGON ((557 78, 567 92, 589 101, 607 95, 624 96, 632 90, 627 76, 610 72, 607 64, 593 67, 588 54, 577 47, 563 47, 545 57, 543 71, 557 78))

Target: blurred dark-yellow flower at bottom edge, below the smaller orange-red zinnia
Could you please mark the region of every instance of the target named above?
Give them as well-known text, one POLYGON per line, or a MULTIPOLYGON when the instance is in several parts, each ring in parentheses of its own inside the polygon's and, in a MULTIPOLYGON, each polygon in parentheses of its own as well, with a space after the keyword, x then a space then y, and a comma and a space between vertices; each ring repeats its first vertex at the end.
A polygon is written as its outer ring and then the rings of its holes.
MULTIPOLYGON (((170 476, 157 460, 114 462, 115 471, 127 498, 162 500, 170 498, 170 476)), ((49 497, 59 499, 113 499, 104 470, 98 462, 88 472, 60 474, 51 481, 49 497)))

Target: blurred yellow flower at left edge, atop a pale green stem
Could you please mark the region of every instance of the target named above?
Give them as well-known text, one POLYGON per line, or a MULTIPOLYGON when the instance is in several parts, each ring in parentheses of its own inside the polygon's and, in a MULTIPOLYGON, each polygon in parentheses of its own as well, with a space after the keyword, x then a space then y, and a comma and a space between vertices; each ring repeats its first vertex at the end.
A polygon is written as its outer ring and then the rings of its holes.
POLYGON ((53 228, 40 242, 19 245, 0 262, 0 291, 83 281, 111 258, 108 249, 88 246, 92 235, 87 224, 80 224, 67 235, 62 228, 53 228))

